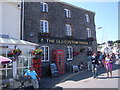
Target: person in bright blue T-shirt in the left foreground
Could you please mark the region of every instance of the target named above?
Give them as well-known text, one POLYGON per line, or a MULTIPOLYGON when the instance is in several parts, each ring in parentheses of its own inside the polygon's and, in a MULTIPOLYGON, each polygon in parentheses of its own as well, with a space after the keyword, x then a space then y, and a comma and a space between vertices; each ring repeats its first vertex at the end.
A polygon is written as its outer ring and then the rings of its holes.
POLYGON ((30 67, 24 76, 31 78, 32 85, 36 90, 39 88, 38 79, 40 80, 40 77, 37 75, 33 67, 30 67))

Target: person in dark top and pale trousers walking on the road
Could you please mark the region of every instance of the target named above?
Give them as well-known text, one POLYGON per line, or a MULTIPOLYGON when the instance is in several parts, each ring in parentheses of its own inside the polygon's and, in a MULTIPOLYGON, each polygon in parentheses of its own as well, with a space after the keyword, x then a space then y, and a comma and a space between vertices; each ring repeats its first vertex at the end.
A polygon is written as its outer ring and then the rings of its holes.
POLYGON ((93 53, 91 60, 92 60, 93 78, 97 78, 97 67, 99 65, 99 61, 98 61, 96 53, 93 53))

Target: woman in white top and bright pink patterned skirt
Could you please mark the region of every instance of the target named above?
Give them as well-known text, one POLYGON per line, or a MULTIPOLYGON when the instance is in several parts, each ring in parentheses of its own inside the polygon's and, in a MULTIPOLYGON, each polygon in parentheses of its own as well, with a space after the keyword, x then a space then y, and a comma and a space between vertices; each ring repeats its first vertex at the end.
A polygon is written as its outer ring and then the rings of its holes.
POLYGON ((105 58, 105 63, 106 63, 106 72, 107 72, 107 77, 109 77, 109 72, 110 71, 110 75, 112 77, 112 58, 109 56, 109 54, 106 54, 106 58, 105 58))

